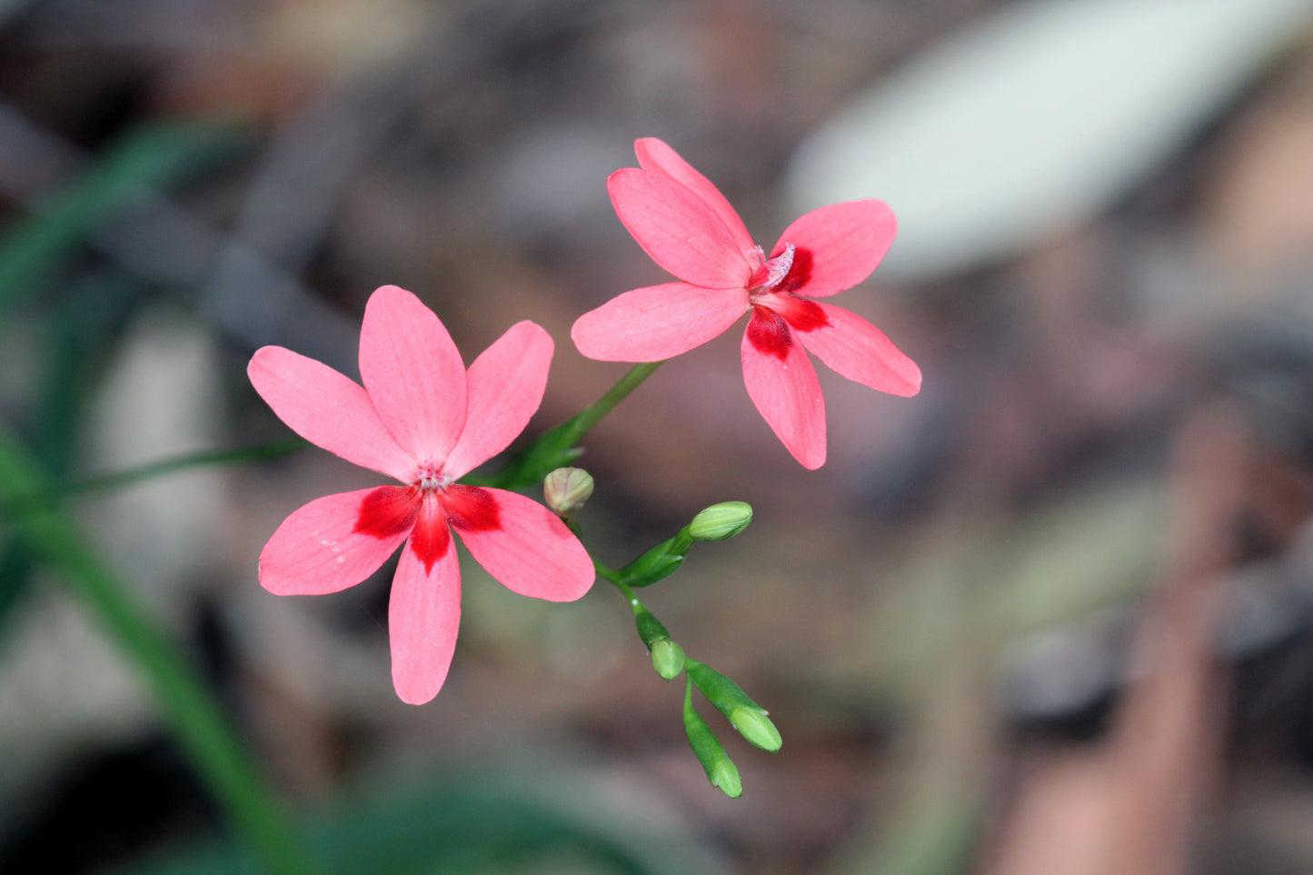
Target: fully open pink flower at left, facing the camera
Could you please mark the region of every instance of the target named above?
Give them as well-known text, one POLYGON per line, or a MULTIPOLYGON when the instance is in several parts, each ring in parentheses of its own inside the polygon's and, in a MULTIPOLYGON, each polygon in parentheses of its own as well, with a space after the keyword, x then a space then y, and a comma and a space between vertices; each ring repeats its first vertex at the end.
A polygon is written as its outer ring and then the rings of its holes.
POLYGON ((456 648, 461 568, 452 531, 508 589, 549 602, 592 586, 583 544, 546 507, 502 489, 462 486, 542 402, 551 338, 532 322, 502 335, 469 372, 433 311, 386 285, 360 330, 361 388, 332 368, 264 347, 251 384, 293 431, 347 461, 400 481, 327 495, 299 508, 260 553, 277 595, 323 595, 360 583, 402 544, 387 628, 397 695, 437 695, 456 648))

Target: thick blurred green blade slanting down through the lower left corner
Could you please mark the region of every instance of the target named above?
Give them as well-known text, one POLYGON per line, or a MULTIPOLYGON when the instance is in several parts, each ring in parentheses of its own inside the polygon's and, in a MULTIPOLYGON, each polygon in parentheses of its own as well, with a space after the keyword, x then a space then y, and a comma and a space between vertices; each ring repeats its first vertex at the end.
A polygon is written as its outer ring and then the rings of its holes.
MULTIPOLYGON (((0 495, 37 495, 49 489, 30 455, 0 428, 0 495)), ((119 648, 155 687, 168 720, 200 776, 236 832, 269 872, 301 875, 312 864, 273 801, 249 752, 238 740, 209 688, 176 648, 133 603, 123 583, 54 507, 37 507, 16 520, 17 533, 63 572, 119 648)))

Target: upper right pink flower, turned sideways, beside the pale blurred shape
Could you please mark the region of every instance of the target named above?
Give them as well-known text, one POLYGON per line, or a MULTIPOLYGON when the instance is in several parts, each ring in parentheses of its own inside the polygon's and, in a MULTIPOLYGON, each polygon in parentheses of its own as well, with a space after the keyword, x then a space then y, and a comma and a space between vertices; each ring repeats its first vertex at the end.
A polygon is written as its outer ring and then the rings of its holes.
POLYGON ((660 361, 720 336, 744 313, 743 382, 804 468, 825 464, 825 398, 810 351, 839 374, 895 395, 920 369, 876 326, 825 298, 861 282, 893 243, 881 201, 807 213, 767 256, 725 196, 655 138, 634 143, 639 168, 607 180, 616 214, 643 251, 683 282, 625 292, 583 314, 570 336, 603 361, 660 361))

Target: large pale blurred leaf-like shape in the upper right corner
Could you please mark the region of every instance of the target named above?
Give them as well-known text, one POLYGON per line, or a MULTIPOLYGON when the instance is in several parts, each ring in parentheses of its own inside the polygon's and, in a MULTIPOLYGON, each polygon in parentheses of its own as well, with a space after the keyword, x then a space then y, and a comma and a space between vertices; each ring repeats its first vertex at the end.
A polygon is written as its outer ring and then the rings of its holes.
POLYGON ((1166 163, 1310 24, 1313 0, 1032 0, 914 58, 802 143, 797 212, 888 201, 886 276, 1016 254, 1166 163))

